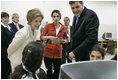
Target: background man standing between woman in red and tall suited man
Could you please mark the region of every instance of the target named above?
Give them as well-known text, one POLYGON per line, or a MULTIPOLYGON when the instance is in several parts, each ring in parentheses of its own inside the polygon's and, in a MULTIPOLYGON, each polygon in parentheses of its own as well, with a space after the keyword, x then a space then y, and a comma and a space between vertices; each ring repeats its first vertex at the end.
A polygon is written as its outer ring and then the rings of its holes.
POLYGON ((70 19, 69 17, 64 17, 64 25, 67 29, 67 36, 68 36, 68 42, 63 44, 63 50, 62 50, 62 64, 66 63, 66 59, 67 62, 70 63, 72 62, 69 59, 69 52, 71 51, 71 39, 70 39, 70 34, 71 34, 71 28, 72 26, 69 25, 70 24, 70 19))

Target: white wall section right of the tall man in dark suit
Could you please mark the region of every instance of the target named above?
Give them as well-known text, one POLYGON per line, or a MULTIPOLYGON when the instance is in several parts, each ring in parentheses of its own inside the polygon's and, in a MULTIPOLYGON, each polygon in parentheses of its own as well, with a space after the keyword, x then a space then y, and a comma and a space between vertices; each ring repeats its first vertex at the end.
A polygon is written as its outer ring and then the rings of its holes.
POLYGON ((99 39, 104 32, 112 32, 112 38, 117 39, 117 2, 116 1, 86 1, 85 5, 94 10, 100 20, 99 39))

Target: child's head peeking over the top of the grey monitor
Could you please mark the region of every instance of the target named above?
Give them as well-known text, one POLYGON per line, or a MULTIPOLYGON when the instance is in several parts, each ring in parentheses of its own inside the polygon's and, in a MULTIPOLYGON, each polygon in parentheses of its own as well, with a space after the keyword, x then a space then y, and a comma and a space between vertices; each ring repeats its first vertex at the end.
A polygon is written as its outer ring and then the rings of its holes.
POLYGON ((90 60, 103 60, 105 56, 105 50, 100 45, 94 45, 89 53, 90 60))

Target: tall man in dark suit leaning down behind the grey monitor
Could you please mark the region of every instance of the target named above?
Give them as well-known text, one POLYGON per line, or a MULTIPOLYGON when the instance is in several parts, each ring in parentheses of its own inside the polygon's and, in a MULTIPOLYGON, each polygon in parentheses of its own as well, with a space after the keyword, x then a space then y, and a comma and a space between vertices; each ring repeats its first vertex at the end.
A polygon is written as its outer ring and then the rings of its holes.
POLYGON ((89 60, 89 50, 98 44, 99 19, 94 11, 84 7, 83 1, 69 1, 69 4, 74 13, 69 59, 89 60))

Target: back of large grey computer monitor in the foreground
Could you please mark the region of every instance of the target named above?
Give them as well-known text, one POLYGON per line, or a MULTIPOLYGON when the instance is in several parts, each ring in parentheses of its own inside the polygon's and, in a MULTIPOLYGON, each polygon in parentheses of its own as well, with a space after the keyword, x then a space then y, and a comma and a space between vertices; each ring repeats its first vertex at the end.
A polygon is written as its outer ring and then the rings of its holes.
POLYGON ((60 79, 117 79, 117 61, 81 61, 61 65, 60 79))

